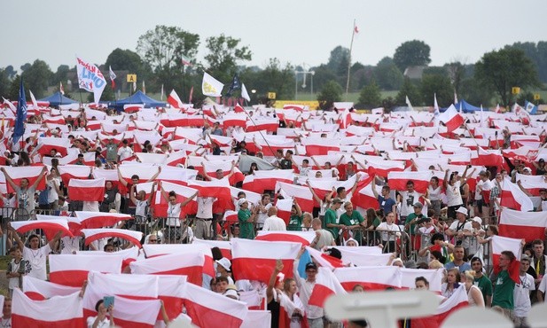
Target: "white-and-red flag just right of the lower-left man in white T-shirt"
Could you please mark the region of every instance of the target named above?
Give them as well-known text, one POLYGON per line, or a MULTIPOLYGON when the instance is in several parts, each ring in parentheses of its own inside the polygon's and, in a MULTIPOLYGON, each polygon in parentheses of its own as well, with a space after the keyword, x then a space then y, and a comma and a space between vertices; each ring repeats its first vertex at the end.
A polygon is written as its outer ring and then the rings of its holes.
POLYGON ((77 287, 88 279, 90 271, 121 273, 123 258, 114 254, 50 254, 50 281, 77 287))

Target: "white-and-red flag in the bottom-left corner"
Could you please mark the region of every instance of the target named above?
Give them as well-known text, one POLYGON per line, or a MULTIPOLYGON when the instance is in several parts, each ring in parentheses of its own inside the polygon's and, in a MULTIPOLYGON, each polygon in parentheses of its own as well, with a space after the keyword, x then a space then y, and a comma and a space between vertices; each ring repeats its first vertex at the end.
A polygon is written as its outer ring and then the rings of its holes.
POLYGON ((82 299, 79 293, 53 296, 34 301, 19 288, 13 289, 13 327, 84 327, 82 299))

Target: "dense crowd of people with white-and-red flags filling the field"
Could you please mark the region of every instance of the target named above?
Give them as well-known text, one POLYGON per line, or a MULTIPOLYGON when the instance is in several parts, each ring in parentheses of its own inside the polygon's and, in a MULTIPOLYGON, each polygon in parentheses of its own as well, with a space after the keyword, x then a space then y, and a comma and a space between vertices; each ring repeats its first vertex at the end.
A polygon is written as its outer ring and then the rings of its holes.
MULTIPOLYGON (((386 266, 446 269, 444 299, 463 285, 470 306, 496 308, 517 326, 526 326, 531 304, 544 300, 543 239, 523 240, 520 284, 508 273, 520 254, 504 250, 494 268, 490 243, 508 207, 504 185, 514 184, 533 202, 530 211, 547 211, 547 118, 458 115, 463 123, 449 130, 434 113, 361 114, 349 108, 340 113, 223 105, 137 113, 42 108, 28 116, 25 136, 16 142, 12 121, 3 120, 3 233, 12 262, 0 323, 10 320, 9 297, 21 288, 22 277, 47 279, 48 254, 134 246, 120 237, 84 246, 84 237, 61 232, 45 240, 39 231, 23 241, 8 223, 86 211, 131 215, 104 228, 142 231, 143 244, 314 231, 309 246, 330 249, 329 256, 345 265, 352 264, 336 247, 376 247, 393 254, 386 266), (200 117, 201 123, 189 116, 200 117), (22 178, 13 170, 40 166, 39 174, 22 178), (90 169, 82 174, 77 167, 90 169), (264 171, 271 175, 265 178, 264 171), (284 187, 287 171, 293 172, 288 182, 294 191, 284 187), (402 177, 395 178, 394 172, 402 177), (426 177, 416 178, 418 173, 426 177), (104 199, 71 194, 71 180, 101 178, 104 199), (173 184, 183 185, 184 192, 173 184), (211 191, 216 187, 222 191, 211 191)), ((204 281, 204 287, 235 300, 259 290, 272 327, 340 326, 329 321, 324 308, 309 304, 318 264, 309 261, 299 272, 304 250, 295 259, 293 277, 284 277, 283 263, 277 262, 270 281, 263 282, 237 279, 230 260, 215 251, 217 277, 204 281)), ((416 279, 417 289, 428 286, 426 277, 416 279)), ((112 306, 98 304, 97 311, 89 326, 113 323, 106 318, 113 318, 112 306)))

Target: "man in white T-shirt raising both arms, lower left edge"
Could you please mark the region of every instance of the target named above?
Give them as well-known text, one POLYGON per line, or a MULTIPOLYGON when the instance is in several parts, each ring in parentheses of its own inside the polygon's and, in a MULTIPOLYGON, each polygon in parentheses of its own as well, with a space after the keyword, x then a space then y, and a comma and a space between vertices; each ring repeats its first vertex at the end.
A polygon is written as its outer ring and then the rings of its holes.
POLYGON ((28 273, 28 276, 47 280, 46 260, 48 254, 51 253, 51 248, 59 241, 59 238, 61 238, 62 231, 59 231, 54 238, 51 238, 49 243, 42 247, 40 247, 40 238, 34 234, 30 235, 30 237, 28 237, 28 244, 30 247, 26 247, 23 244, 19 233, 12 227, 10 227, 10 229, 12 229, 12 234, 17 242, 17 246, 19 246, 21 252, 23 252, 23 259, 30 263, 30 272, 28 273))

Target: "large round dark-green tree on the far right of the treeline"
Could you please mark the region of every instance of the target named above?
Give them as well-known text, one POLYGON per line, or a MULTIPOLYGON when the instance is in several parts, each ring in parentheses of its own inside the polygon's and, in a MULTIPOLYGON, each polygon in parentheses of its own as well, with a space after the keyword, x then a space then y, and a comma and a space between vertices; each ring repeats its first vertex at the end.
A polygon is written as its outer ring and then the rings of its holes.
POLYGON ((512 87, 535 87, 539 85, 534 63, 524 51, 514 48, 484 54, 475 64, 475 78, 483 88, 494 90, 501 105, 511 105, 512 87))

